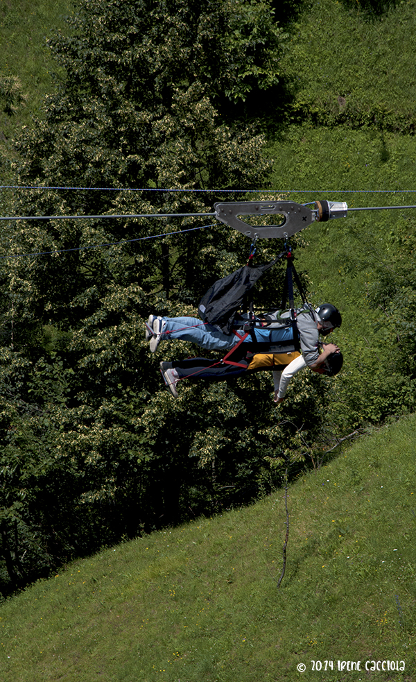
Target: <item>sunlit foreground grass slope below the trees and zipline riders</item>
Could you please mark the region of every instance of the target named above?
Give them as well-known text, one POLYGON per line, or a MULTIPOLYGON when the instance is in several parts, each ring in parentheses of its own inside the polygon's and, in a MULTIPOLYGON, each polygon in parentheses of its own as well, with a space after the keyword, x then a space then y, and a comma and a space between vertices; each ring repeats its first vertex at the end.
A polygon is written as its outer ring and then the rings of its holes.
POLYGON ((1 681, 416 679, 415 430, 415 416, 386 426, 291 486, 280 589, 282 491, 106 549, 2 604, 1 681), (378 660, 405 670, 365 671, 378 660))

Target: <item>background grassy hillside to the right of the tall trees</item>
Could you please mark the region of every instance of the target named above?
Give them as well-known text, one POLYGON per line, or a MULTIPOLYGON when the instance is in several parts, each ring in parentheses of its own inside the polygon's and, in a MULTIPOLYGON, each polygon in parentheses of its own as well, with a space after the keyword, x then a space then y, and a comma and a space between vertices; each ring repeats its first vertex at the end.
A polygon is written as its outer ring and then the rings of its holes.
MULTIPOLYGON (((291 122, 270 142, 272 187, 310 190, 286 195, 300 203, 416 204, 415 17, 413 1, 371 21, 359 3, 304 9, 281 62, 291 122)), ((345 367, 327 418, 345 429, 415 409, 415 220, 412 209, 351 212, 302 233, 311 301, 343 314, 333 341, 345 367)))

